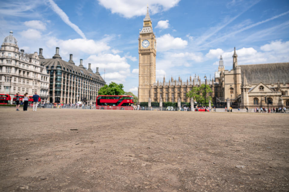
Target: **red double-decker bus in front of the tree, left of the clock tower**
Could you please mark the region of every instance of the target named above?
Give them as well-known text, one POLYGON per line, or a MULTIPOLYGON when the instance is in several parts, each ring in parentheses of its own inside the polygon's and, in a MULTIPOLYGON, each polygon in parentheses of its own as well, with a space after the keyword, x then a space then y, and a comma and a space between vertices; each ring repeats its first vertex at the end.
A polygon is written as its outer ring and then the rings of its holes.
POLYGON ((96 109, 133 110, 133 97, 130 95, 98 95, 96 109))

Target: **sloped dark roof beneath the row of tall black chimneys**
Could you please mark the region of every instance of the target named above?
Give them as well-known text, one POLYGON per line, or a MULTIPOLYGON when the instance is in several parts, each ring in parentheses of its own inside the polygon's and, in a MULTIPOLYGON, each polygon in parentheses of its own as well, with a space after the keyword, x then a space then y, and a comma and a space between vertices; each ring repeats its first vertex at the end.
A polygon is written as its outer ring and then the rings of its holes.
MULTIPOLYGON (((76 73, 72 73, 72 74, 82 76, 85 78, 89 78, 89 79, 92 77, 92 78, 95 78, 96 80, 102 81, 102 83, 105 83, 99 73, 93 73, 92 71, 85 70, 82 67, 76 66, 76 65, 69 63, 67 61, 64 61, 60 58, 40 59, 40 62, 42 63, 41 65, 43 65, 45 67, 54 66, 54 70, 56 70, 57 66, 61 66, 61 67, 65 68, 65 70, 70 69, 70 70, 76 72, 76 73), (80 70, 83 71, 83 73, 80 70), (91 75, 89 75, 89 74, 91 74, 91 75)), ((69 73, 70 73, 70 71, 69 71, 69 73)))

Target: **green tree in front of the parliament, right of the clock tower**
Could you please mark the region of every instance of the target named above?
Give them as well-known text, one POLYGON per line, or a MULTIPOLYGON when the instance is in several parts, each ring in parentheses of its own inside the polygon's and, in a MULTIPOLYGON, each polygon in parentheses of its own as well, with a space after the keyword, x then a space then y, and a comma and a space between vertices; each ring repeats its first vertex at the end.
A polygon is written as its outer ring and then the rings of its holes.
MULTIPOLYGON (((206 106, 209 106, 209 101, 212 101, 212 97, 209 93, 213 92, 210 85, 206 85, 206 106)), ((187 93, 188 98, 193 98, 199 104, 205 104, 205 84, 199 87, 193 87, 191 91, 187 93)))

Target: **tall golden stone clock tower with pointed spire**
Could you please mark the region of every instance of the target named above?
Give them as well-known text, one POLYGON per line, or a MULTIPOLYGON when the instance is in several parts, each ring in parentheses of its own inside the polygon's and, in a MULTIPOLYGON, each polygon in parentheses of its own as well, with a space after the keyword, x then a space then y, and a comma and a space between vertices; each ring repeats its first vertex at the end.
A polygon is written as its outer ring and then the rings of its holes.
POLYGON ((138 38, 138 101, 153 97, 151 86, 156 82, 156 37, 147 11, 138 38))

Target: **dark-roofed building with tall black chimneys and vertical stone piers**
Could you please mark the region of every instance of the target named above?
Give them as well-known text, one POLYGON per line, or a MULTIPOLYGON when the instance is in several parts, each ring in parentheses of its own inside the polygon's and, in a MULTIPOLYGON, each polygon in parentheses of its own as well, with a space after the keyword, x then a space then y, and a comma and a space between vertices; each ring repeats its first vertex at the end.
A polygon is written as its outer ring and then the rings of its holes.
POLYGON ((50 76, 49 78, 49 102, 75 104, 79 101, 85 104, 94 104, 98 96, 98 90, 105 85, 104 80, 98 72, 92 72, 91 64, 88 69, 73 62, 73 55, 70 60, 64 61, 59 55, 59 47, 56 47, 55 55, 52 58, 44 58, 42 49, 39 49, 41 65, 44 66, 50 76))

